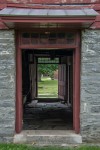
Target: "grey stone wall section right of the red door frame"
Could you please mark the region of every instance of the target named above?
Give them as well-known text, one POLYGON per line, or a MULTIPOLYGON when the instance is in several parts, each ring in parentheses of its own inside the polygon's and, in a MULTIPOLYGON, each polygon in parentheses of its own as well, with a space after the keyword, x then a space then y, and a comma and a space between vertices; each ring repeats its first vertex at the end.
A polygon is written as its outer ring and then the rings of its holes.
POLYGON ((100 142, 100 30, 82 32, 81 134, 100 142))

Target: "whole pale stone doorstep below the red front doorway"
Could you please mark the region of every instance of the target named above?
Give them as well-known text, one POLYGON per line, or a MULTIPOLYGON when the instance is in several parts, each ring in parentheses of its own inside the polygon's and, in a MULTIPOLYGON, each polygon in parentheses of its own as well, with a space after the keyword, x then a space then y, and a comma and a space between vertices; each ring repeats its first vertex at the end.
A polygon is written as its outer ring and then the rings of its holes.
POLYGON ((30 130, 15 135, 14 143, 27 143, 34 145, 81 144, 82 137, 72 131, 65 130, 30 130))

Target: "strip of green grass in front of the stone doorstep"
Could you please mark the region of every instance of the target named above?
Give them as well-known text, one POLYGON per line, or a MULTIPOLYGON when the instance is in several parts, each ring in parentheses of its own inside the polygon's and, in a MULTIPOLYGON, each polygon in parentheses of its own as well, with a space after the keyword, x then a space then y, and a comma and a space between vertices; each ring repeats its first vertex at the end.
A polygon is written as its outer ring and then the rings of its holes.
POLYGON ((0 150, 100 150, 98 146, 81 146, 81 147, 34 147, 19 144, 0 144, 0 150))

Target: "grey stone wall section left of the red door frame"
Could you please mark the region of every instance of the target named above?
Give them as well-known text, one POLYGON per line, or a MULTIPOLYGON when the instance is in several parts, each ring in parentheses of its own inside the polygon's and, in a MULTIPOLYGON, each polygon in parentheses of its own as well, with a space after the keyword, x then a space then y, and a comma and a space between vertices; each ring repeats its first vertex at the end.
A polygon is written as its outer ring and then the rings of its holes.
POLYGON ((0 142, 11 142, 15 132, 14 31, 0 30, 0 142))

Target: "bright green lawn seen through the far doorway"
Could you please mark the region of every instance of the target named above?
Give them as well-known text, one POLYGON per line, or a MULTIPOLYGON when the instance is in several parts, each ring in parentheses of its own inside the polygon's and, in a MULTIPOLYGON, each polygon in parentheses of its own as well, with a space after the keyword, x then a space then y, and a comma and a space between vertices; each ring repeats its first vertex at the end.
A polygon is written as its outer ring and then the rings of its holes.
POLYGON ((51 80, 48 77, 42 77, 38 82, 39 97, 58 97, 58 80, 51 80))

